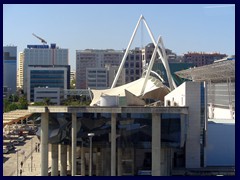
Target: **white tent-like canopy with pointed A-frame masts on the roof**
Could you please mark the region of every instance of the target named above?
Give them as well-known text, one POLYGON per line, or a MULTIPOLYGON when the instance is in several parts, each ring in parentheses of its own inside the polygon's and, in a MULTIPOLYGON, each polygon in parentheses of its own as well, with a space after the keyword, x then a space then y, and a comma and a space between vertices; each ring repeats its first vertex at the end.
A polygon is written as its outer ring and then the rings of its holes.
POLYGON ((118 72, 116 74, 116 77, 113 81, 111 88, 105 89, 105 90, 91 90, 93 92, 93 99, 92 99, 90 106, 101 106, 100 101, 101 101, 101 97, 103 97, 103 96, 105 96, 105 97, 106 96, 126 97, 126 99, 128 101, 128 105, 143 105, 144 101, 142 101, 142 99, 145 99, 145 98, 158 99, 158 100, 163 101, 164 96, 166 94, 168 94, 174 88, 176 88, 176 84, 173 81, 173 78, 170 73, 169 64, 167 61, 167 55, 166 55, 166 51, 165 51, 165 48, 163 45, 162 38, 159 37, 158 41, 156 43, 156 41, 153 37, 153 34, 146 23, 146 20, 141 15, 138 20, 138 23, 134 29, 134 32, 132 34, 132 37, 128 44, 128 47, 125 51, 125 54, 123 56, 123 59, 121 61, 121 64, 119 66, 118 72), (147 70, 145 72, 143 72, 144 76, 142 76, 140 79, 133 81, 131 83, 119 86, 119 87, 115 87, 116 82, 118 81, 118 78, 120 76, 120 73, 124 67, 126 58, 128 56, 129 49, 131 47, 131 44, 133 42, 133 39, 135 37, 136 31, 138 29, 138 26, 139 26, 139 23, 141 20, 144 22, 144 25, 146 26, 147 31, 150 35, 150 38, 155 46, 150 63, 147 67, 147 70), (160 50, 160 48, 161 48, 161 50, 160 50), (151 76, 151 73, 156 75, 156 73, 152 71, 152 67, 153 67, 154 61, 156 59, 157 53, 166 69, 170 87, 167 87, 163 84, 163 78, 160 75, 157 74, 158 78, 151 76))

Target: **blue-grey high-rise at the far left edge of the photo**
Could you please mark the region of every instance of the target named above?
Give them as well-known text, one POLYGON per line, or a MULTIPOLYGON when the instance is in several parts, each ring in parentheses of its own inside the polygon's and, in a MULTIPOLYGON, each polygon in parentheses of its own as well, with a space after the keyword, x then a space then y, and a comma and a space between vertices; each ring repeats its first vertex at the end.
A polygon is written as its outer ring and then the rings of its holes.
POLYGON ((16 92, 17 88, 17 47, 3 46, 3 87, 7 94, 16 92))

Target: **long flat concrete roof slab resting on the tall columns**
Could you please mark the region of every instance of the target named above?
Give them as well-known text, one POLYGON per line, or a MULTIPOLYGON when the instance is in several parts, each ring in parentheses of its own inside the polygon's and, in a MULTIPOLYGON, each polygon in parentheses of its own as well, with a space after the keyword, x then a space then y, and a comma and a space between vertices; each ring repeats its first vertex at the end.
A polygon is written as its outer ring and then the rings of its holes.
POLYGON ((180 113, 188 114, 188 107, 92 107, 92 106, 28 106, 31 113, 180 113))

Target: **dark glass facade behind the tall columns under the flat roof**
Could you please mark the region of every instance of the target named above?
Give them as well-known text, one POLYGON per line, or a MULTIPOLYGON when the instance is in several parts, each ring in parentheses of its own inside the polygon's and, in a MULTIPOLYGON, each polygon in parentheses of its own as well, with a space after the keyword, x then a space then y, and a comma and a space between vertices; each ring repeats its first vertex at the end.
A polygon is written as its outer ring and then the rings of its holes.
MULTIPOLYGON (((161 118, 162 158, 166 163, 162 171, 174 167, 184 167, 184 146, 181 147, 180 114, 163 113, 161 118), (166 167, 165 167, 166 166, 166 167)), ((152 170, 152 114, 122 113, 116 118, 116 148, 118 173, 121 175, 141 175, 152 170), (121 172, 120 172, 121 171, 121 172)), ((49 114, 50 144, 71 145, 72 118, 69 113, 49 114), (58 133, 54 133, 58 132, 58 133)), ((89 172, 89 137, 92 138, 93 175, 109 176, 111 174, 111 114, 110 113, 77 113, 77 147, 85 149, 85 172, 89 172), (104 165, 101 165, 104 164, 104 165)), ((40 135, 40 130, 37 133, 40 135)), ((81 152, 77 150, 77 159, 81 152)), ((81 157, 83 158, 83 157, 81 157)), ((166 171, 165 171, 166 173, 166 171)), ((77 163, 77 174, 81 174, 81 166, 77 163)))

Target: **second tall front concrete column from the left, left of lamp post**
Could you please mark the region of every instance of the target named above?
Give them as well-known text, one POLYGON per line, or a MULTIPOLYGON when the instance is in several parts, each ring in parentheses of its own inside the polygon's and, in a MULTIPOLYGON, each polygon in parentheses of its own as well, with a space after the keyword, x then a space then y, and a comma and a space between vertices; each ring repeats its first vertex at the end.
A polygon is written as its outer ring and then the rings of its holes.
MULTIPOLYGON (((72 176, 76 175, 77 114, 72 113, 72 176)), ((70 151, 69 151, 70 153, 70 151)))

